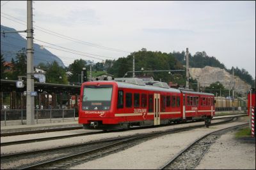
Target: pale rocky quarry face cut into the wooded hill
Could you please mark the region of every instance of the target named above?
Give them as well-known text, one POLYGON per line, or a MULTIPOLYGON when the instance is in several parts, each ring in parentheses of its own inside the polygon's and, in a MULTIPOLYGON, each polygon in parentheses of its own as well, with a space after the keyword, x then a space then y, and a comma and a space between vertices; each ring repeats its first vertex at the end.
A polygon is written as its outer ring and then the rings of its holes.
MULTIPOLYGON (((232 90, 232 74, 219 67, 205 66, 204 68, 189 68, 189 74, 200 83, 200 87, 207 87, 219 81, 225 89, 232 90)), ((238 76, 234 76, 234 89, 239 94, 246 95, 251 86, 238 76)))

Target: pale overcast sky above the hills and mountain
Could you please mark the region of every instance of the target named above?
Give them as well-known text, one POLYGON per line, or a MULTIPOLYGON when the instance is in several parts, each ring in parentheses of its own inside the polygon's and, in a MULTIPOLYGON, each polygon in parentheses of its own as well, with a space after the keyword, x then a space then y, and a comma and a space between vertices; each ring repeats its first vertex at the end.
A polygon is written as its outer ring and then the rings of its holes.
MULTIPOLYGON (((1 25, 26 30, 26 5, 1 1, 1 25)), ((35 43, 66 66, 74 59, 126 57, 141 48, 189 48, 191 55, 205 51, 255 78, 255 1, 34 1, 33 8, 35 43)))

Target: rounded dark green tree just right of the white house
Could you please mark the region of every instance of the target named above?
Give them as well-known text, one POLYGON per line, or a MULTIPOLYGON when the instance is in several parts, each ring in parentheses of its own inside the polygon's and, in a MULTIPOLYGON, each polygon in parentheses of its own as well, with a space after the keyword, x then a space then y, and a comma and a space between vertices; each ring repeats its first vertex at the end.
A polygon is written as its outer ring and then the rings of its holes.
POLYGON ((45 73, 45 78, 47 83, 58 83, 58 84, 67 84, 67 75, 65 69, 59 66, 58 62, 54 61, 52 64, 49 64, 49 69, 45 73))

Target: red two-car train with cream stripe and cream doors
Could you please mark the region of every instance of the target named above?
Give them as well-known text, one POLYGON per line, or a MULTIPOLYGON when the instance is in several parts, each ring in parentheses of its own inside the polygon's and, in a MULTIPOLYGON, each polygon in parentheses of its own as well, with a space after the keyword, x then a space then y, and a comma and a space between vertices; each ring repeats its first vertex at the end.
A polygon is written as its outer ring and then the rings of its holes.
POLYGON ((79 124, 84 129, 128 129, 211 120, 214 94, 178 90, 167 83, 153 85, 133 78, 122 81, 88 81, 81 85, 79 124))

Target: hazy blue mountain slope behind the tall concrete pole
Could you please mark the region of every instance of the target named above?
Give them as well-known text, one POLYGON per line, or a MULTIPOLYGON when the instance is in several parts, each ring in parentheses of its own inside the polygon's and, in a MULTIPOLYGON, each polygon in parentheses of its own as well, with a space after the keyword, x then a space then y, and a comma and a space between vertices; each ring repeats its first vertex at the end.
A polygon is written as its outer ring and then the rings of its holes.
MULTIPOLYGON (((10 27, 4 27, 1 25, 2 31, 16 31, 10 27)), ((20 34, 8 33, 1 34, 1 53, 11 53, 4 54, 4 60, 10 62, 12 58, 15 60, 16 53, 19 52, 22 48, 26 48, 27 41, 25 38, 20 36, 20 34)), ((40 45, 34 44, 34 66, 37 66, 40 62, 47 64, 47 62, 51 63, 56 60, 61 67, 65 67, 62 60, 56 55, 52 54, 48 50, 44 48, 41 49, 40 45)))

